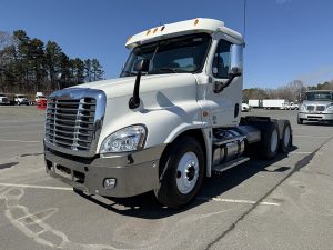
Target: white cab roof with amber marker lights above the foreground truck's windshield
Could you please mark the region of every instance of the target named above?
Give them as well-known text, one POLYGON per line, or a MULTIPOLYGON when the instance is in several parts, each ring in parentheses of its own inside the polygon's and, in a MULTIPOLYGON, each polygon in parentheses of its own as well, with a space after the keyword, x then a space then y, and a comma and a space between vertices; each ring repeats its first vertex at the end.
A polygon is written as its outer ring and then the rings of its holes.
POLYGON ((226 28, 223 21, 219 21, 215 19, 196 18, 186 21, 154 27, 140 33, 137 33, 128 39, 125 47, 128 49, 132 49, 140 44, 167 38, 173 38, 198 32, 213 33, 215 31, 226 33, 228 36, 239 40, 240 43, 244 43, 242 36, 239 32, 226 28))

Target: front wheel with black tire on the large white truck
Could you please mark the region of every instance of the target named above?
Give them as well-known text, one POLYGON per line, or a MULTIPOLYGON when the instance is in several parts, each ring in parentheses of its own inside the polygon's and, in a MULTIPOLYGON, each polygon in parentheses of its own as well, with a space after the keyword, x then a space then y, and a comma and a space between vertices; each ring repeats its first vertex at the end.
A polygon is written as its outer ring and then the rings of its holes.
POLYGON ((199 141, 183 137, 174 141, 160 161, 157 199, 169 208, 188 204, 198 193, 204 176, 204 154, 199 141))

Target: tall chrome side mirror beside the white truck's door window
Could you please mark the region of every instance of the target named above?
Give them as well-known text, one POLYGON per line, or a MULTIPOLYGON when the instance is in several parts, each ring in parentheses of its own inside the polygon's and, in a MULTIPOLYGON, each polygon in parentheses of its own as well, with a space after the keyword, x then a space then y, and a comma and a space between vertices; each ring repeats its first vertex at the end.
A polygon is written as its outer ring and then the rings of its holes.
POLYGON ((239 77, 243 72, 243 44, 232 44, 230 48, 229 76, 239 77))

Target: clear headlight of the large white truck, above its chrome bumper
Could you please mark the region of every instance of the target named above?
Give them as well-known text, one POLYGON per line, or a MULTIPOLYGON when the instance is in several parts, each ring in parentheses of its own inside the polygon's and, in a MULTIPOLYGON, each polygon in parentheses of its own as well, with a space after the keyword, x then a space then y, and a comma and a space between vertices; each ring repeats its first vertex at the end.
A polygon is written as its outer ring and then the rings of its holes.
POLYGON ((147 138, 144 126, 135 124, 123 128, 107 137, 100 153, 127 152, 142 149, 147 138))

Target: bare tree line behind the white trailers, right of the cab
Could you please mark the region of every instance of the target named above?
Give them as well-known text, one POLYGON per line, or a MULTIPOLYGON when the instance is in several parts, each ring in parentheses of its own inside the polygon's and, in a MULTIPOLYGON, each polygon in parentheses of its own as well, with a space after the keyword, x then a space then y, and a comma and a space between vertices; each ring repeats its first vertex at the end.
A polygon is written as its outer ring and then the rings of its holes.
POLYGON ((333 80, 310 87, 306 87, 300 80, 294 80, 278 89, 244 89, 243 101, 248 102, 250 99, 285 99, 292 102, 302 102, 306 90, 333 90, 333 80))

